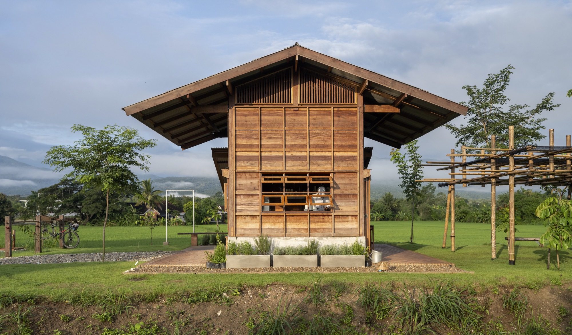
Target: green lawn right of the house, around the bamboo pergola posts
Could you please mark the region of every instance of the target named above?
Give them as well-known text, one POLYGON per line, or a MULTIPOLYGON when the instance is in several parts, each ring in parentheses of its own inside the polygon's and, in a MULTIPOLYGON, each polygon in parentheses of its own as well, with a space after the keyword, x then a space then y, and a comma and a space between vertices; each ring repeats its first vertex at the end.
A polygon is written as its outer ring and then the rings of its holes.
MULTIPOLYGON (((532 241, 515 242, 515 265, 509 266, 506 233, 496 234, 496 257, 491 261, 490 225, 474 223, 455 224, 456 251, 451 252, 450 238, 447 249, 442 249, 444 222, 415 221, 414 244, 409 243, 411 221, 374 222, 376 243, 389 243, 404 249, 413 250, 440 260, 454 263, 459 268, 474 271, 477 281, 490 281, 494 278, 509 281, 545 280, 547 274, 562 274, 572 278, 572 258, 567 250, 560 252, 561 271, 547 271, 547 248, 541 248, 532 241)), ((517 237, 540 237, 546 232, 543 225, 519 225, 517 237)), ((447 236, 450 235, 450 230, 447 236)), ((551 254, 551 264, 556 266, 556 253, 551 254)))

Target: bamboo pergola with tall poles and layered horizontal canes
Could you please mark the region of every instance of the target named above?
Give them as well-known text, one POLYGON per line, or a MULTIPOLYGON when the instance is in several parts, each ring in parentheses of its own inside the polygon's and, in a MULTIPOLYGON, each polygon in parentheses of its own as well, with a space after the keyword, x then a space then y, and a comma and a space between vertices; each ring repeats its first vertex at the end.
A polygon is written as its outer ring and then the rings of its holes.
POLYGON ((554 145, 554 129, 549 129, 549 145, 514 147, 514 126, 509 126, 509 147, 496 147, 491 135, 491 147, 462 146, 460 153, 447 154, 450 161, 426 162, 424 166, 440 166, 437 170, 450 170, 450 178, 425 178, 424 182, 439 182, 448 186, 443 249, 446 248, 448 221, 451 220, 451 251, 455 251, 455 185, 491 185, 491 260, 496 258, 496 186, 509 185, 509 264, 515 264, 514 254, 514 185, 571 186, 572 143, 566 135, 565 146, 554 145), (467 160, 467 158, 472 158, 467 160), (460 162, 459 162, 460 159, 460 162), (458 178, 460 176, 460 178, 458 178))

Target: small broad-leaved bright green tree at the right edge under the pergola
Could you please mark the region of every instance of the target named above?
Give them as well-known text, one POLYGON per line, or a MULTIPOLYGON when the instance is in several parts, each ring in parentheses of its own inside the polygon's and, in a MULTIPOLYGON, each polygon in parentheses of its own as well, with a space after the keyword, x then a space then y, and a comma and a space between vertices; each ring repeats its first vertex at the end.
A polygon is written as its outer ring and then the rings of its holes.
POLYGON ((540 243, 548 246, 547 269, 550 269, 550 248, 556 249, 558 270, 560 257, 558 250, 572 246, 572 201, 557 197, 547 198, 538 205, 536 214, 545 220, 546 233, 540 237, 540 243))

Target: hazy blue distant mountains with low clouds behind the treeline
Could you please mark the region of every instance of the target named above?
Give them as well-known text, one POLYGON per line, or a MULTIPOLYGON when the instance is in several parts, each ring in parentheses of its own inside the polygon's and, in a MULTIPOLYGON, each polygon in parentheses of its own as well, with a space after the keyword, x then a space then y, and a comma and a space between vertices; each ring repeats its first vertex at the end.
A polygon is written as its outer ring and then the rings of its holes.
MULTIPOLYGON (((187 190, 194 189, 199 197, 213 196, 221 192, 219 178, 215 177, 160 177, 154 174, 138 176, 140 180, 150 179, 157 190, 187 190)), ((0 155, 0 193, 9 196, 27 196, 31 191, 45 188, 56 184, 61 174, 54 173, 44 167, 32 166, 0 155)), ((392 181, 372 182, 371 198, 376 199, 386 192, 391 192, 396 197, 403 197, 402 189, 399 188, 399 180, 396 177, 392 181)), ((457 190, 457 194, 471 199, 490 198, 490 193, 474 190, 457 190)), ((480 188, 479 188, 480 189, 480 188)), ((437 188, 436 192, 447 192, 446 188, 437 188)), ((177 192, 179 195, 191 195, 190 192, 177 192)))

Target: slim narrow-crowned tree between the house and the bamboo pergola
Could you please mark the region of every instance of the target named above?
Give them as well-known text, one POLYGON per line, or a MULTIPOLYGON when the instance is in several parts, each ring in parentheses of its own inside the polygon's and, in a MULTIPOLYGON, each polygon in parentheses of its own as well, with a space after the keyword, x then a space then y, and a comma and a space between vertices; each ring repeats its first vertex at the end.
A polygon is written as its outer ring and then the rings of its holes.
POLYGON ((413 217, 415 216, 415 199, 420 196, 421 182, 417 180, 423 179, 423 167, 421 164, 421 155, 417 152, 419 146, 417 140, 411 141, 405 145, 407 150, 403 154, 399 149, 391 149, 390 160, 395 163, 401 180, 400 188, 403 189, 403 194, 406 199, 412 202, 411 206, 411 238, 410 243, 413 243, 413 217))

